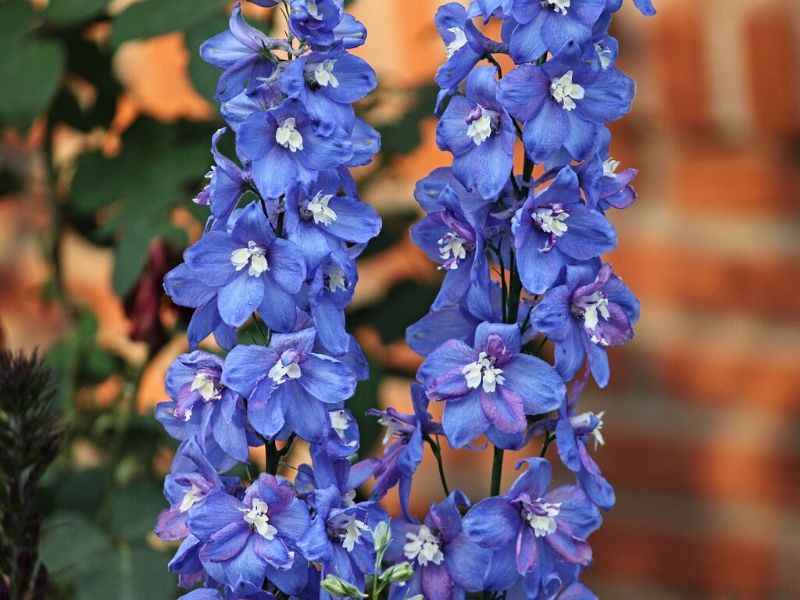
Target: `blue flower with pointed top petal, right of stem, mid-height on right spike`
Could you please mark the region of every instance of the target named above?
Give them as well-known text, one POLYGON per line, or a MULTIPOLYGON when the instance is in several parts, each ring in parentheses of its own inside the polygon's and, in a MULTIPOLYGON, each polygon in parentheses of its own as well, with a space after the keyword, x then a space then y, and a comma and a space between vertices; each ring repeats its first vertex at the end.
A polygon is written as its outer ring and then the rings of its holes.
POLYGON ((611 223, 581 201, 578 177, 564 167, 550 186, 529 194, 512 225, 519 275, 533 294, 547 291, 564 265, 613 250, 611 223))

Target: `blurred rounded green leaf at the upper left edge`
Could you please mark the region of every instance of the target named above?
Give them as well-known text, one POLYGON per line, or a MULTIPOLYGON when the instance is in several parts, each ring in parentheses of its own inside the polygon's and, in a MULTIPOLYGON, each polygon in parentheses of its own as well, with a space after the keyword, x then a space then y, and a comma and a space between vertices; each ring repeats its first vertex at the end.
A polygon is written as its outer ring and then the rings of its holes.
POLYGON ((0 61, 0 122, 27 129, 43 114, 61 81, 64 53, 50 41, 30 41, 0 61))

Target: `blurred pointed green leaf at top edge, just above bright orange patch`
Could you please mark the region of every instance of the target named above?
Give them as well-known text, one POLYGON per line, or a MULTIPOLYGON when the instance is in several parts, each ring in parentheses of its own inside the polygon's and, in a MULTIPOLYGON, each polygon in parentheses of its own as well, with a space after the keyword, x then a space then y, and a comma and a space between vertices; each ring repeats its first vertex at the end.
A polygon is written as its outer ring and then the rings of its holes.
POLYGON ((111 44, 117 47, 129 40, 186 31, 209 15, 222 13, 224 7, 219 0, 147 0, 133 4, 114 21, 111 44))

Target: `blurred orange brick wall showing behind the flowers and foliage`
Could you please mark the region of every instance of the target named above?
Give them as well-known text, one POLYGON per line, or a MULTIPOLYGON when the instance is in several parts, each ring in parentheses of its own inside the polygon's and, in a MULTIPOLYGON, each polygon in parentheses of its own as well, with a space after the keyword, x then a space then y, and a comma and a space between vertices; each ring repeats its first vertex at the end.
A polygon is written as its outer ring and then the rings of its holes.
MULTIPOLYGON (((444 60, 433 26, 439 4, 353 7, 369 31, 359 53, 397 90, 398 111, 402 91, 430 81, 444 60)), ((640 297, 642 317, 634 341, 611 353, 611 386, 587 401, 606 411, 597 461, 618 505, 591 540, 596 564, 586 581, 609 599, 800 598, 800 11, 793 0, 656 6, 658 15, 645 19, 626 2, 614 25, 620 66, 639 93, 634 111, 612 126, 612 154, 640 174, 637 203, 611 217, 620 244, 607 260, 640 297)), ((123 47, 115 68, 130 92, 119 126, 140 112, 208 119, 216 107, 193 90, 187 63, 181 34, 123 47)), ((365 200, 382 215, 416 210, 415 181, 448 164, 434 130, 431 117, 423 145, 370 186, 365 200)), ((34 182, 0 202, 0 321, 9 348, 47 347, 64 328, 40 293, 49 276, 40 135, 4 134, 3 160, 20 163, 34 182)), ((56 159, 85 144, 60 132, 56 159)), ((142 360, 112 291, 110 252, 67 233, 62 256, 70 295, 98 315, 100 343, 142 360)), ((365 259, 360 273, 355 308, 404 281, 435 278, 410 242, 365 259)), ((418 357, 369 327, 357 334, 371 358, 408 374, 383 379, 381 404, 407 407, 418 357)), ((185 349, 177 339, 158 354, 140 391, 142 411, 165 399, 164 371, 185 349)), ((419 513, 439 499, 429 458, 413 488, 419 513)), ((446 452, 444 460, 451 485, 473 498, 486 493, 488 453, 446 452)))

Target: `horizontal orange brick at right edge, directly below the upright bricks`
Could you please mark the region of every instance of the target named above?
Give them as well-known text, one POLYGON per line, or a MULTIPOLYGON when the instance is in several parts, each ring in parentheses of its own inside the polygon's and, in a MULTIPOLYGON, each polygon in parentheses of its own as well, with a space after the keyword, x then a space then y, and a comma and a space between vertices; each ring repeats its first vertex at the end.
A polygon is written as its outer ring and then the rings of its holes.
POLYGON ((687 145, 675 161, 673 197, 692 211, 796 215, 800 165, 782 148, 687 145))

